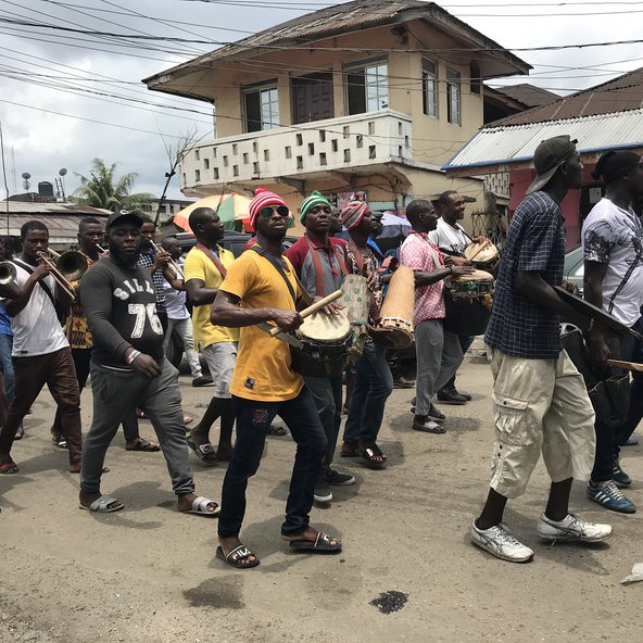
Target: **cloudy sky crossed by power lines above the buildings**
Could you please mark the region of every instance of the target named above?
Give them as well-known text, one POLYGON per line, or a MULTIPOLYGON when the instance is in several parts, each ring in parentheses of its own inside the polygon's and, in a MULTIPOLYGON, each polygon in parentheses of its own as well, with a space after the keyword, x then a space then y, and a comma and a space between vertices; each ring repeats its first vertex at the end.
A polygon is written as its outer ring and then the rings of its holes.
MULTIPOLYGON (((160 196, 166 146, 191 129, 212 136, 207 105, 150 92, 141 78, 216 45, 134 39, 162 36, 229 42, 322 9, 313 0, 0 0, 0 123, 9 192, 22 174, 78 185, 94 156, 137 172, 137 191, 160 196), (75 30, 72 30, 75 29, 75 30), (86 34, 81 31, 101 31, 86 34), (110 35, 105 35, 110 34, 110 35), (124 36, 128 36, 124 38, 124 36)), ((529 81, 558 93, 584 89, 643 66, 643 2, 479 0, 441 7, 533 65, 529 81)), ((504 79, 500 84, 508 84, 504 79)), ((492 83, 491 85, 500 85, 492 83)), ((0 193, 4 197, 0 177, 0 193)), ((180 197, 174 179, 171 197, 180 197)))

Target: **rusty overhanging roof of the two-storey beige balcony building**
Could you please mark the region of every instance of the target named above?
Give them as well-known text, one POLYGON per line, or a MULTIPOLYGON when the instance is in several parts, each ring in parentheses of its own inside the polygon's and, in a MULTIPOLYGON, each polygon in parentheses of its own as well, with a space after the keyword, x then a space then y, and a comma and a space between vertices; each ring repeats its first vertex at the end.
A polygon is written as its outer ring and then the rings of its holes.
MULTIPOLYGON (((143 78, 143 83, 154 86, 162 85, 167 76, 180 76, 196 70, 207 68, 214 62, 228 62, 256 55, 256 50, 266 48, 283 49, 323 38, 346 34, 387 24, 400 24, 412 20, 425 20, 439 27, 455 27, 466 31, 487 56, 503 56, 526 74, 531 65, 505 50, 497 42, 477 31, 463 21, 456 18, 434 2, 423 0, 354 0, 344 4, 336 4, 307 13, 294 20, 281 23, 237 42, 226 45, 210 53, 176 65, 165 72, 143 78)), ((475 45, 471 45, 475 48, 475 45)), ((153 87, 155 88, 155 87, 153 87)))

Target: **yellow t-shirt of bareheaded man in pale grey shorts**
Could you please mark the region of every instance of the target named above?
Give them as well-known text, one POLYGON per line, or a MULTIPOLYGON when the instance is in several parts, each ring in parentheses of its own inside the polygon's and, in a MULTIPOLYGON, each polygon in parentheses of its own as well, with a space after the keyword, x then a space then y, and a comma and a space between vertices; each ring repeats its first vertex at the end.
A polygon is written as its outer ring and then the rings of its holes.
MULTIPOLYGON (((225 248, 217 247, 217 250, 218 261, 228 269, 235 261, 235 255, 225 248)), ((192 248, 188 252, 184 274, 186 282, 190 279, 201 279, 205 283, 205 288, 219 288, 224 280, 214 263, 198 248, 192 248)), ((192 308, 192 326, 197 350, 202 350, 210 344, 222 341, 239 341, 238 328, 212 325, 210 322, 211 308, 211 304, 192 308)))

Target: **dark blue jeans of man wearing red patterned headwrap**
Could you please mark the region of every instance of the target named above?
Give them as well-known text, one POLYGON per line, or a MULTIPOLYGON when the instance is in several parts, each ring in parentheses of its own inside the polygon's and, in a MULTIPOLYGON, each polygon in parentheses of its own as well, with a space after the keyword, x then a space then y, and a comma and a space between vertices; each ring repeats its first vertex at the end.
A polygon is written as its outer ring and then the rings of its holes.
POLYGON ((387 399, 393 390, 393 376, 387 363, 384 348, 367 342, 355 367, 355 388, 343 440, 373 444, 384 417, 387 399))

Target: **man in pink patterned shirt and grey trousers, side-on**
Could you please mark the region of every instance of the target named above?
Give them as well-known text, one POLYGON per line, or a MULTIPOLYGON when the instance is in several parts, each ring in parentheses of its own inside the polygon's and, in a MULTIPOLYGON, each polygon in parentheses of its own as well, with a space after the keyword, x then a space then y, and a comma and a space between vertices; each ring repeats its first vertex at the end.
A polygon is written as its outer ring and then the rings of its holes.
POLYGON ((444 433, 444 415, 431 398, 447 382, 463 362, 457 336, 444 332, 444 279, 474 272, 468 266, 445 266, 443 255, 430 240, 438 216, 430 201, 416 200, 406 206, 411 235, 400 249, 400 262, 415 274, 415 352, 417 356, 416 404, 413 429, 444 433))

